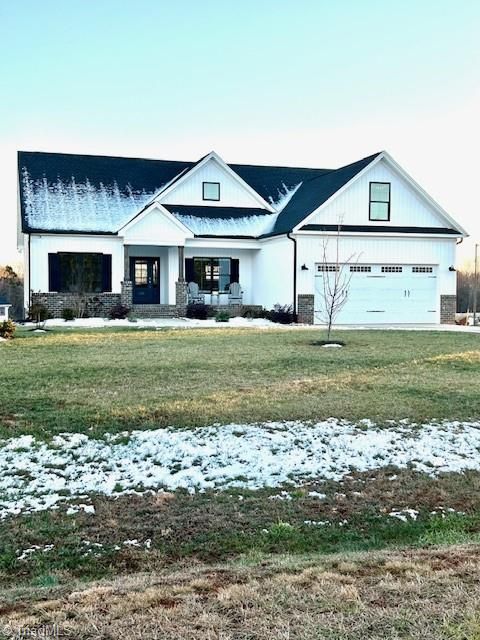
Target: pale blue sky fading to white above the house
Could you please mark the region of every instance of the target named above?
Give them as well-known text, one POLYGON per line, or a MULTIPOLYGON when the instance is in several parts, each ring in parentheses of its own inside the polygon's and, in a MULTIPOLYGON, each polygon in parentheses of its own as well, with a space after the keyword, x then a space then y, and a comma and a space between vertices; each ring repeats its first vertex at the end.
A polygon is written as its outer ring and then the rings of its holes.
POLYGON ((385 148, 478 241, 479 33, 478 0, 0 0, 0 264, 17 149, 335 167, 385 148))

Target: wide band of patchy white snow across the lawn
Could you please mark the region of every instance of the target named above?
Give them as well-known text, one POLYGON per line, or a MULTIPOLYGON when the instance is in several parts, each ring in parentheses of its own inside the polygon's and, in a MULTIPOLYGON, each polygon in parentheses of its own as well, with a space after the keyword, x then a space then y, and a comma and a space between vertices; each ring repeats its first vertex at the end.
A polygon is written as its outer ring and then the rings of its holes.
MULTIPOLYGON (((62 504, 70 513, 92 514, 92 494, 275 488, 311 479, 339 481, 353 470, 389 465, 430 475, 480 470, 479 451, 480 422, 400 421, 378 428, 369 420, 332 418, 164 428, 104 440, 64 433, 51 443, 27 435, 0 441, 0 517, 62 504)), ((275 499, 288 499, 286 494, 275 499)))

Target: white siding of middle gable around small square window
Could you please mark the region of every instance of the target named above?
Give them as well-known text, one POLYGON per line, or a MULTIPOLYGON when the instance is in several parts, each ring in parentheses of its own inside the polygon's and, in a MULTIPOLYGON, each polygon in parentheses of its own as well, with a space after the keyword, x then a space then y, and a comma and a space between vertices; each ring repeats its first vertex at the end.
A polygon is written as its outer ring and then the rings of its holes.
POLYGON ((215 159, 160 198, 165 204, 199 205, 208 207, 254 207, 263 208, 248 189, 233 178, 215 159), (202 182, 220 183, 220 201, 203 200, 202 182))

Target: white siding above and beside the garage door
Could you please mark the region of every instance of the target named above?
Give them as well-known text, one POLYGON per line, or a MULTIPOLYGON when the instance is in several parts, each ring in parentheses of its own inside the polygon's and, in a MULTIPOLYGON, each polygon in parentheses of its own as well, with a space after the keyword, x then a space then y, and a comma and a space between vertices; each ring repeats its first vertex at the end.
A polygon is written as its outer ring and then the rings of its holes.
MULTIPOLYGON (((455 265, 456 241, 452 238, 385 238, 354 237, 340 239, 339 262, 354 256, 362 264, 430 264, 438 265, 438 294, 456 294, 456 273, 449 271, 455 265)), ((329 236, 327 261, 335 261, 336 236, 329 236)), ((314 266, 323 260, 322 236, 298 236, 298 293, 314 293, 314 266), (305 263, 308 271, 302 271, 305 263)))

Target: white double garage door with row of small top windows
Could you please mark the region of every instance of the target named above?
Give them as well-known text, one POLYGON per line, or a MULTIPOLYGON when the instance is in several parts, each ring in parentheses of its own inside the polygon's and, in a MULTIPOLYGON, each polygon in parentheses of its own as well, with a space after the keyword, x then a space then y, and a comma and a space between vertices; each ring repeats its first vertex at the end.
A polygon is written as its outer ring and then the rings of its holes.
POLYGON ((325 322, 324 289, 328 283, 332 285, 336 275, 350 279, 347 301, 336 317, 337 324, 438 322, 434 265, 316 264, 316 324, 325 322))

